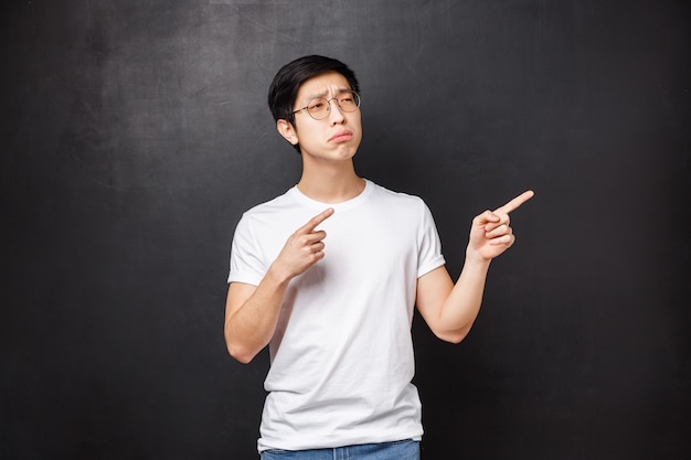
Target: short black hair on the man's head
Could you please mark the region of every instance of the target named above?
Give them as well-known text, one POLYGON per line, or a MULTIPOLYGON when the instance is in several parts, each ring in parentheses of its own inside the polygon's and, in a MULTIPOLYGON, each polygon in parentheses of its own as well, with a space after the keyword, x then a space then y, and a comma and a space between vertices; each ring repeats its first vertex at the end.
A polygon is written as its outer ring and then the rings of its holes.
MULTIPOLYGON (((342 62, 316 54, 302 56, 280 67, 268 88, 268 108, 272 110, 274 121, 284 119, 295 126, 293 107, 300 86, 309 78, 328 72, 343 75, 350 88, 360 93, 355 73, 342 62)), ((296 145, 295 148, 300 151, 299 146, 296 145)))

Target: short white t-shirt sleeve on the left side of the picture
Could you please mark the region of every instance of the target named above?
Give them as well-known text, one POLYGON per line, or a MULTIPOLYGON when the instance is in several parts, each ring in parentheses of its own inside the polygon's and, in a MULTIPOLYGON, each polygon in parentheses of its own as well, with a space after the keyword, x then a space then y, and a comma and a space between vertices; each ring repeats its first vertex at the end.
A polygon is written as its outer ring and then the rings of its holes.
POLYGON ((227 282, 258 286, 266 270, 266 264, 262 258, 262 248, 252 231, 251 220, 243 215, 233 236, 227 282))

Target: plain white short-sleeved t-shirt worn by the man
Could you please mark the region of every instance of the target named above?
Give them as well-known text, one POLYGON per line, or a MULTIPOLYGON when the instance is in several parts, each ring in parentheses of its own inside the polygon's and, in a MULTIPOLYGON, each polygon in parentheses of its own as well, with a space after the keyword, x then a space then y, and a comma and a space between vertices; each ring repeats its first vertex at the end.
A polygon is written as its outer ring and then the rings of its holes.
POLYGON ((259 451, 423 434, 411 324, 417 278, 444 257, 419 197, 366 181, 357 197, 325 204, 293 188, 243 215, 228 282, 258 285, 290 234, 327 207, 325 258, 291 280, 269 344, 259 451))

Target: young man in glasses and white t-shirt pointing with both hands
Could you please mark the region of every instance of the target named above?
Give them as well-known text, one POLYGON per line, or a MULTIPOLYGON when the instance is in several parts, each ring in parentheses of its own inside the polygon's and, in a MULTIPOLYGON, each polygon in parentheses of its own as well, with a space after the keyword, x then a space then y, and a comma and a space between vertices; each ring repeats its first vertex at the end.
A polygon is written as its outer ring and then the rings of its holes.
POLYGON ((475 217, 454 285, 424 202, 355 173, 358 92, 353 72, 323 56, 287 64, 269 89, 302 175, 238 223, 224 327, 243 363, 269 346, 264 460, 418 459, 413 309, 438 338, 460 342, 491 259, 514 242, 509 213, 532 196, 475 217))

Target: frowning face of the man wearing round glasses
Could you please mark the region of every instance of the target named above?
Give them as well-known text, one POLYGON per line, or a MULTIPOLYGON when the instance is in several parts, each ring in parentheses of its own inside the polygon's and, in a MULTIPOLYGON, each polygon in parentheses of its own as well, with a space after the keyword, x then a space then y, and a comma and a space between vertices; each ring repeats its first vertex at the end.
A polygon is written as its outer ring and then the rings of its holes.
MULTIPOLYGON (((343 90, 350 89, 348 81, 339 73, 318 75, 300 86, 293 109, 306 107, 316 97, 331 99, 338 97, 343 90)), ((329 115, 322 120, 316 120, 307 110, 300 110, 295 114, 295 126, 290 126, 285 120, 278 121, 278 131, 290 143, 300 145, 306 161, 349 160, 358 151, 362 140, 360 109, 348 113, 343 111, 336 100, 329 104, 329 115)))

